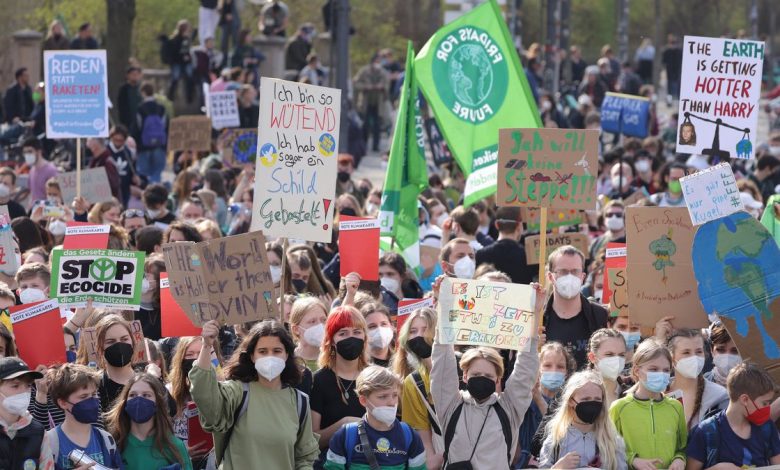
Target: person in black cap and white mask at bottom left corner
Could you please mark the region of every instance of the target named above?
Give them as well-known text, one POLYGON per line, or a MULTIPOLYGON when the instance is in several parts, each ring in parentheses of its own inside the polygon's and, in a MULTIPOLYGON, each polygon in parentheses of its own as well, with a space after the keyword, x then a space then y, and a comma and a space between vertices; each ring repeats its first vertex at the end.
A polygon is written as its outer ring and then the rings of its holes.
POLYGON ((27 411, 33 380, 43 374, 31 371, 18 357, 0 359, 0 468, 38 468, 45 429, 27 411))

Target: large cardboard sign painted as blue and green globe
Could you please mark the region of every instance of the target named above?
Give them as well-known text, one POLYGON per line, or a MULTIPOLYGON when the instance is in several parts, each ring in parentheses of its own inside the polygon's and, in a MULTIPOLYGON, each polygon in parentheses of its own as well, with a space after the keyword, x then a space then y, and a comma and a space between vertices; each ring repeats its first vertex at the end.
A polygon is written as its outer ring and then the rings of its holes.
POLYGON ((699 227, 693 242, 699 298, 717 314, 742 360, 780 379, 780 249, 761 223, 745 212, 699 227))

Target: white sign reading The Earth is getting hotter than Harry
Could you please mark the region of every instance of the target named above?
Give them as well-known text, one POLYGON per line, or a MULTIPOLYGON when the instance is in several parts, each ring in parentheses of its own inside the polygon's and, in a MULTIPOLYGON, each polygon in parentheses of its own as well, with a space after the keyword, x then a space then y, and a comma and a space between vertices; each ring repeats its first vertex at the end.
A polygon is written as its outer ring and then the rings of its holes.
POLYGON ((677 153, 753 158, 765 45, 685 36, 677 153))

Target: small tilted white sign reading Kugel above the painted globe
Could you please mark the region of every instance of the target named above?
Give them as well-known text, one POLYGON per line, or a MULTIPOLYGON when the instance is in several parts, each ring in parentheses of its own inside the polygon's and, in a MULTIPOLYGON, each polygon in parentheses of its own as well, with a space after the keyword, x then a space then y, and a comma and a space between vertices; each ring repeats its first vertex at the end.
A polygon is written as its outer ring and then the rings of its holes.
POLYGON ((680 178, 693 225, 745 210, 731 165, 721 163, 680 178))

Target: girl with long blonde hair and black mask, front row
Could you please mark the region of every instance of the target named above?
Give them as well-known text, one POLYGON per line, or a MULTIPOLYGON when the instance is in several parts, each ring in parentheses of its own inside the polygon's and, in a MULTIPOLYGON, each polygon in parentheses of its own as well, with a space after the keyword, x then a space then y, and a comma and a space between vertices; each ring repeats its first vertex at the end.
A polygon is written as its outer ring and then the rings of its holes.
POLYGON ((607 415, 598 372, 577 372, 566 382, 560 406, 547 423, 539 468, 626 469, 623 439, 607 415))

